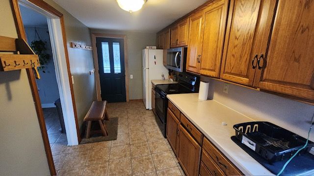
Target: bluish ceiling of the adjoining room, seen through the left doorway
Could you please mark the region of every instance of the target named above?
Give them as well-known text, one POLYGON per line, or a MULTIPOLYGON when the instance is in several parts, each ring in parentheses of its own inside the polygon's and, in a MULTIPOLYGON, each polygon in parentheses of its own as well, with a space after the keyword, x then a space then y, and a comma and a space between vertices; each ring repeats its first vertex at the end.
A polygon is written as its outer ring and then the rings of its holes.
POLYGON ((20 5, 20 11, 25 26, 48 26, 47 18, 44 15, 22 5, 20 5))

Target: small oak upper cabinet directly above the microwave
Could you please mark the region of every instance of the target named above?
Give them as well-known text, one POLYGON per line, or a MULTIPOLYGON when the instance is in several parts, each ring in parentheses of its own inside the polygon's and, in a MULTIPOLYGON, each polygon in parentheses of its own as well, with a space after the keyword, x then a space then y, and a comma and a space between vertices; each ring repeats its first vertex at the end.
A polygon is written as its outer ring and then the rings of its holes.
POLYGON ((171 27, 170 47, 186 46, 188 43, 188 18, 171 27))

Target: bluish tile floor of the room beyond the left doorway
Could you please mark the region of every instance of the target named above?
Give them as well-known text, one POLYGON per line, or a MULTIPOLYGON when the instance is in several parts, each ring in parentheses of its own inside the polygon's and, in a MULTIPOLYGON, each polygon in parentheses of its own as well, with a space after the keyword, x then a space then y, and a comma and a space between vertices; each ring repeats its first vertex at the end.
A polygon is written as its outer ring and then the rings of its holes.
POLYGON ((52 146, 54 143, 67 142, 66 133, 61 133, 61 125, 56 108, 43 108, 46 129, 48 133, 49 143, 52 146))

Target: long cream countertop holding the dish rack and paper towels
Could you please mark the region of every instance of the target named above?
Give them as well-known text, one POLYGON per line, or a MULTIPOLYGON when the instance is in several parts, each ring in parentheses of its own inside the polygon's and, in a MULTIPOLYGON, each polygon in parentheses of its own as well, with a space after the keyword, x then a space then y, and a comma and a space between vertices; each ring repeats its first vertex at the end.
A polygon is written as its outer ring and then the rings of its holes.
POLYGON ((171 94, 167 98, 245 175, 274 175, 231 140, 233 126, 254 121, 214 100, 199 100, 198 93, 171 94), (223 126, 226 122, 227 126, 223 126))

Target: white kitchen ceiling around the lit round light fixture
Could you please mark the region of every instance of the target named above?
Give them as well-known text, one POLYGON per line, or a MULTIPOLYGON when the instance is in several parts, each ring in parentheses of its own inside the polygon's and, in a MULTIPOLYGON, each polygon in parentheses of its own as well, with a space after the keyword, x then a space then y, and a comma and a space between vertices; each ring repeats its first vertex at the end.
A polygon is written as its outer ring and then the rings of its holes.
POLYGON ((116 0, 53 0, 89 28, 155 33, 206 0, 148 0, 137 12, 116 0))

